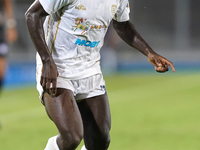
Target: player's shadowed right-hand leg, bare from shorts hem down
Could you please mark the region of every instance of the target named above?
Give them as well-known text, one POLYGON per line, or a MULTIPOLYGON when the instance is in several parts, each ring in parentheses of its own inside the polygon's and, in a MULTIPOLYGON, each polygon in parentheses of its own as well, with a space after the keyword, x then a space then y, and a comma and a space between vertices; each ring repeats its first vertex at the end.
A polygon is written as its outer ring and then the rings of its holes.
MULTIPOLYGON (((107 150, 110 143, 111 116, 107 94, 78 103, 83 119, 84 142, 88 150, 107 150)), ((86 150, 84 147, 83 150, 86 150)))

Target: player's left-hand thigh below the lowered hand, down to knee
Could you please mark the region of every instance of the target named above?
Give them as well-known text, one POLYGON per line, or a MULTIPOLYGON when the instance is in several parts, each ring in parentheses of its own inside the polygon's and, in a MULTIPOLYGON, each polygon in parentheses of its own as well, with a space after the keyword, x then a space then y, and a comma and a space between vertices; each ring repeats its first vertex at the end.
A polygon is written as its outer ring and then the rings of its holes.
POLYGON ((82 133, 81 115, 70 90, 57 89, 55 97, 44 93, 43 100, 47 114, 61 133, 68 130, 77 130, 82 133))

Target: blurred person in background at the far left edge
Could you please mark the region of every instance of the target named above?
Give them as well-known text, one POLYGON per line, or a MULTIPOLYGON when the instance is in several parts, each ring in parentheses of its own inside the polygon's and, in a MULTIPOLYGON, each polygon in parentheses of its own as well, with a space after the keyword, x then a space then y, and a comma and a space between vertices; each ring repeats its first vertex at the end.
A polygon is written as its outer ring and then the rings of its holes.
POLYGON ((17 40, 16 21, 13 14, 12 0, 0 1, 0 89, 6 70, 8 45, 17 40))

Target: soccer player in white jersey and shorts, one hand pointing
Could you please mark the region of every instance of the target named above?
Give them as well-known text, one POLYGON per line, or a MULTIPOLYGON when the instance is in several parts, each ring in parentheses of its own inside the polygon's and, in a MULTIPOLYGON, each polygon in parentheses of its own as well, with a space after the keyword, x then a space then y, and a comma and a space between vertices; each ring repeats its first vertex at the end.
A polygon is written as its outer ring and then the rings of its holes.
POLYGON ((154 52, 129 21, 128 0, 36 0, 26 23, 37 49, 37 89, 59 134, 45 150, 107 150, 110 108, 100 69, 100 48, 110 22, 157 72, 173 64, 154 52), (46 17, 44 24, 43 18, 46 17))

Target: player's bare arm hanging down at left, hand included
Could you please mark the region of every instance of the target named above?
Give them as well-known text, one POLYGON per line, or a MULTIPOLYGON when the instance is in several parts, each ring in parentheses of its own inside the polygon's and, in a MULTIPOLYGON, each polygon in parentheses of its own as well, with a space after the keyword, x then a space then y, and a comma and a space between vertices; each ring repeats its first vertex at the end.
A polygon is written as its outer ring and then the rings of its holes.
POLYGON ((30 37, 43 63, 40 83, 45 91, 55 95, 58 72, 47 47, 43 30, 43 18, 47 15, 40 2, 36 0, 25 13, 25 19, 30 37), (50 91, 51 84, 52 90, 50 91))

